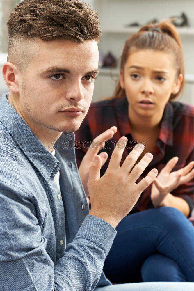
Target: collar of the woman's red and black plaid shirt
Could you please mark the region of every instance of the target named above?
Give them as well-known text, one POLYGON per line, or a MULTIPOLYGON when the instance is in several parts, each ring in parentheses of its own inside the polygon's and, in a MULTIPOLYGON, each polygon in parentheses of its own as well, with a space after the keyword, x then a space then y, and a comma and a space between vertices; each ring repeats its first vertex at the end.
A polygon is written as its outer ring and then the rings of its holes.
MULTIPOLYGON (((128 101, 126 96, 118 99, 116 102, 116 117, 118 120, 118 127, 121 136, 127 136, 131 134, 131 127, 128 117, 128 101)), ((167 145, 173 144, 173 108, 170 102, 165 106, 163 117, 161 120, 161 128, 159 133, 159 139, 167 145)))

